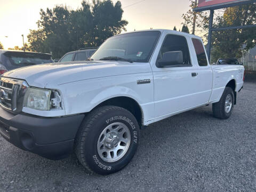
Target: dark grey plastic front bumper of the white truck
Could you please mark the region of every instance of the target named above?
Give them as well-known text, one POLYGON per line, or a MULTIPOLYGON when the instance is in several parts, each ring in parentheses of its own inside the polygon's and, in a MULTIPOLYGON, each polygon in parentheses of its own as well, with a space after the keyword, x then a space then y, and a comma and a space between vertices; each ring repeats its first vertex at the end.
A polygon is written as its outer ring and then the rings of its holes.
POLYGON ((73 151, 83 119, 83 114, 58 118, 13 115, 0 107, 0 134, 23 150, 49 159, 61 159, 73 151))

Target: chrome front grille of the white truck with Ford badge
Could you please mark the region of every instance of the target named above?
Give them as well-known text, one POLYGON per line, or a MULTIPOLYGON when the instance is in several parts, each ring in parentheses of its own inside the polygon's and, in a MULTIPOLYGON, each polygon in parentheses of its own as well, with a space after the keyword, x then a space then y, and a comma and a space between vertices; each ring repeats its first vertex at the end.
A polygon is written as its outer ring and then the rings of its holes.
POLYGON ((1 77, 0 106, 12 113, 19 113, 27 87, 25 81, 1 77))

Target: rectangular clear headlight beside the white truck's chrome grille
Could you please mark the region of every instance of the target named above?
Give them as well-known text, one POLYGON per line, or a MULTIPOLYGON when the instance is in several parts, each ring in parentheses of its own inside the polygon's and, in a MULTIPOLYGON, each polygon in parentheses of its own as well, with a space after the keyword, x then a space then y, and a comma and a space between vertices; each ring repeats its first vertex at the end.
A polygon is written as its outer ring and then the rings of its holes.
POLYGON ((37 110, 50 110, 51 90, 28 88, 24 98, 24 107, 37 110))

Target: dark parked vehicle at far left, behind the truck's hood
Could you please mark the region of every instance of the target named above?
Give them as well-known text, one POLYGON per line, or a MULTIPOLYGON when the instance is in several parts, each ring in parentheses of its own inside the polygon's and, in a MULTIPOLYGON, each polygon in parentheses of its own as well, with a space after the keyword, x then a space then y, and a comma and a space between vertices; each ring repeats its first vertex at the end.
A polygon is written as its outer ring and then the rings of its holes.
POLYGON ((0 50, 0 75, 12 69, 52 62, 51 54, 47 53, 0 50))

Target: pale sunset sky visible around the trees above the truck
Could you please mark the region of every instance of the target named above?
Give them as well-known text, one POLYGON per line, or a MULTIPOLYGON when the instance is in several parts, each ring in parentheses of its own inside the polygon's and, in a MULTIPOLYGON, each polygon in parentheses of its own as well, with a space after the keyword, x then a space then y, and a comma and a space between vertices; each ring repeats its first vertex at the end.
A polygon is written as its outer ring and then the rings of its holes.
MULTIPOLYGON (((113 0, 115 3, 117 0, 113 0)), ((37 29, 40 9, 64 4, 71 9, 82 0, 0 0, 0 42, 4 48, 22 46, 22 34, 27 42, 29 29, 37 29), (7 36, 7 37, 6 37, 7 36)), ((92 2, 91 0, 89 2, 92 2)), ((182 13, 189 9, 189 0, 121 0, 127 31, 143 29, 181 29, 182 13)))

